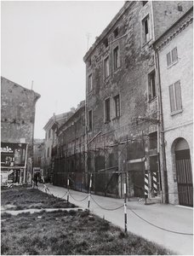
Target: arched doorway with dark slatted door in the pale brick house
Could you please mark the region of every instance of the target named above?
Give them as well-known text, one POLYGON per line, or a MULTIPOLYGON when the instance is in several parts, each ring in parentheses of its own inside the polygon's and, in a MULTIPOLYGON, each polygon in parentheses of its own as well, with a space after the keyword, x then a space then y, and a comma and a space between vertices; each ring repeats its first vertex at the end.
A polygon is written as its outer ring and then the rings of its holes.
POLYGON ((174 148, 176 176, 180 205, 193 206, 193 184, 190 148, 184 138, 180 138, 174 148))

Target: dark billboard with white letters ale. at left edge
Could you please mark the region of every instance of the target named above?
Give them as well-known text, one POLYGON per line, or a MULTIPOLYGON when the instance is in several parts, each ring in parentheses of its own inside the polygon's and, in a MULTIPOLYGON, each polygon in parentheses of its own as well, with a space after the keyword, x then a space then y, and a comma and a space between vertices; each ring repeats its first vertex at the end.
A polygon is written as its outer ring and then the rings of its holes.
POLYGON ((26 146, 26 143, 1 143, 1 166, 24 167, 26 146))

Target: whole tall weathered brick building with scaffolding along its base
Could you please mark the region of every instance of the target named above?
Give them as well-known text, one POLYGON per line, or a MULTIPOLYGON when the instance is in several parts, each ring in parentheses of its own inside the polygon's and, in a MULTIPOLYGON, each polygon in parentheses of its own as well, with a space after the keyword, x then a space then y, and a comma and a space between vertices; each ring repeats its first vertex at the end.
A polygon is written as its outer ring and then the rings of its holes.
MULTIPOLYGON (((88 172, 94 190, 129 196, 160 195, 168 202, 160 168, 160 114, 151 44, 192 2, 128 1, 84 56, 88 172), (147 180, 145 180, 145 177, 147 180), (145 185, 148 188, 145 189, 145 185)), ((163 166, 163 163, 162 163, 163 166)))

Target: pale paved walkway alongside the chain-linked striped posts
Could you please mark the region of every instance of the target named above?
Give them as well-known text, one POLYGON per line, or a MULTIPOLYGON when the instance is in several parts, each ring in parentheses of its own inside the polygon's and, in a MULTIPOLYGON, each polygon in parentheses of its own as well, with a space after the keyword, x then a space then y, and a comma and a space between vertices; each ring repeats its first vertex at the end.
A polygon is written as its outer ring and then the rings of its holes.
MULTIPOLYGON (((67 189, 47 184, 50 192, 58 197, 65 195, 67 189)), ((43 189, 40 185, 40 189, 43 189)), ((87 208, 88 198, 86 193, 70 190, 70 201, 78 207, 87 208), (73 198, 74 199, 73 199, 73 198), (81 201, 83 200, 83 201, 81 201)), ((66 199, 66 196, 63 197, 66 199)), ((90 211, 106 218, 112 224, 115 224, 124 229, 124 212, 123 207, 115 211, 108 211, 107 209, 117 208, 123 205, 123 199, 114 199, 100 195, 92 195, 90 201, 90 211), (98 206, 98 203, 100 206, 98 206)), ((193 209, 189 207, 180 207, 164 204, 146 205, 144 201, 128 201, 128 231, 142 236, 149 241, 154 241, 163 247, 172 250, 174 253, 180 255, 193 255, 193 236, 174 234, 166 230, 173 230, 182 233, 193 233, 193 209), (134 212, 132 212, 132 209, 134 212), (140 217, 138 217, 138 214, 140 217), (161 230, 143 220, 155 224, 163 229, 161 230)))

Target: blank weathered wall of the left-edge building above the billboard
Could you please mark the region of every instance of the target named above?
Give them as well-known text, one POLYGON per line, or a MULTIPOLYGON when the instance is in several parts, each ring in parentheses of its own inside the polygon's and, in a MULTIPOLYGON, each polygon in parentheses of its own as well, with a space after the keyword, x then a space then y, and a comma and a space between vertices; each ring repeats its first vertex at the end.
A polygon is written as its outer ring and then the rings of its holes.
POLYGON ((8 79, 1 78, 1 140, 3 143, 28 143, 27 180, 31 180, 32 133, 35 120, 35 104, 40 97, 8 79))

